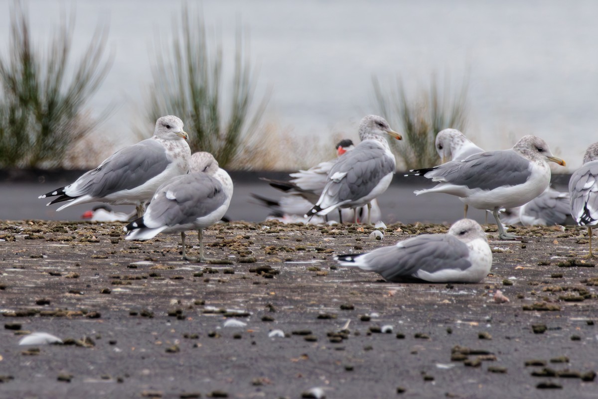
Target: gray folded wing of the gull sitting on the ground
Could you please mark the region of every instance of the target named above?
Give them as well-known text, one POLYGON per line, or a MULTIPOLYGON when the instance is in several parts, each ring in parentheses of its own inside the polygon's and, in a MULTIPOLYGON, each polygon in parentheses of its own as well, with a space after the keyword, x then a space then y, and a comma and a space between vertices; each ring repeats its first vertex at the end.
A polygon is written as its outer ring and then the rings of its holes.
POLYGON ((465 270, 471 266, 465 243, 448 234, 422 234, 399 245, 376 249, 364 260, 388 281, 413 277, 418 270, 428 273, 444 269, 465 270))

